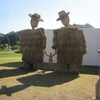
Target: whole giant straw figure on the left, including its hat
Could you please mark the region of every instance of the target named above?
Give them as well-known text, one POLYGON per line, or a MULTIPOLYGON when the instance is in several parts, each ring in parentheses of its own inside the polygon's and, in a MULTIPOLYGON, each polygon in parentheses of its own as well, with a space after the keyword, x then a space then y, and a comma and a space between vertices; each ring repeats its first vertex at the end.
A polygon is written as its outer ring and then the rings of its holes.
POLYGON ((35 29, 39 21, 43 21, 37 13, 29 14, 31 17, 32 29, 23 31, 20 38, 20 48, 22 53, 22 60, 25 69, 37 70, 36 65, 43 62, 44 52, 46 48, 46 36, 43 28, 35 29))

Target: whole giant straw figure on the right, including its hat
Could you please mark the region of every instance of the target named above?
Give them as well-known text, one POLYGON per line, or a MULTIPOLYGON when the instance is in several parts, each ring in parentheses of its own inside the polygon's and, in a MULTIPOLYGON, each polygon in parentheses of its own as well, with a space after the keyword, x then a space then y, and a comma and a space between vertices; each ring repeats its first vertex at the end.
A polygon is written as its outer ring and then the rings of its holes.
POLYGON ((57 49, 57 63, 66 65, 68 72, 78 73, 82 57, 86 53, 86 41, 82 29, 69 26, 69 12, 60 11, 59 18, 65 26, 53 31, 53 49, 57 49))

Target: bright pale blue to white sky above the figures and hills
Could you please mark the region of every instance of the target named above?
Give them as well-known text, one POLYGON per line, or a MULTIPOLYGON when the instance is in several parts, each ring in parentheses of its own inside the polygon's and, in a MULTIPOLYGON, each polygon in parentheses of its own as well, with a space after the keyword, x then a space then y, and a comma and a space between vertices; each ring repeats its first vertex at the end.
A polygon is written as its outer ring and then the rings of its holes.
POLYGON ((100 0, 0 0, 0 33, 31 29, 28 14, 38 13, 44 22, 37 28, 57 29, 58 12, 70 12, 70 24, 89 23, 100 28, 100 0))

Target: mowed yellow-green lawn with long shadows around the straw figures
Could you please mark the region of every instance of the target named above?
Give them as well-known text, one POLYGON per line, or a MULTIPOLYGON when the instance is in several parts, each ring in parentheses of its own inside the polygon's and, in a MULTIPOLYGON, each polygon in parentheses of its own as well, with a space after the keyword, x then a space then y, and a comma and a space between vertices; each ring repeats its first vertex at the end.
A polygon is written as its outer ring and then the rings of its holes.
POLYGON ((91 100, 98 67, 80 66, 80 74, 20 70, 21 54, 0 52, 0 100, 91 100))

